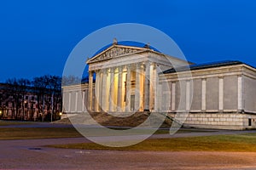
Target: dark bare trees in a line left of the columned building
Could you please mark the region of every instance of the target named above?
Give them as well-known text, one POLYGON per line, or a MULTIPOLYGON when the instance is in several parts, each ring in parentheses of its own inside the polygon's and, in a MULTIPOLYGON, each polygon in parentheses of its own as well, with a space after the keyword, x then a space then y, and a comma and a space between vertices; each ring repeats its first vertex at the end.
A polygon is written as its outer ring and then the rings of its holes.
POLYGON ((9 78, 1 86, 2 118, 55 120, 61 112, 61 103, 61 77, 58 76, 46 75, 32 80, 9 78))

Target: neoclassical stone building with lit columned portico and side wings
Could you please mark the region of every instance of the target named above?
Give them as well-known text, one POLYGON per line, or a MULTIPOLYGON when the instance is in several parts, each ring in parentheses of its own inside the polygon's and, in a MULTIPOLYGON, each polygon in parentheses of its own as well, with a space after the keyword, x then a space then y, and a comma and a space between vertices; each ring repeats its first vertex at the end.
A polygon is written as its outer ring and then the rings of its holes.
POLYGON ((87 60, 89 83, 62 87, 64 112, 188 113, 184 125, 256 127, 256 69, 239 61, 196 65, 152 49, 113 45, 87 60), (81 96, 81 98, 79 98, 81 96))

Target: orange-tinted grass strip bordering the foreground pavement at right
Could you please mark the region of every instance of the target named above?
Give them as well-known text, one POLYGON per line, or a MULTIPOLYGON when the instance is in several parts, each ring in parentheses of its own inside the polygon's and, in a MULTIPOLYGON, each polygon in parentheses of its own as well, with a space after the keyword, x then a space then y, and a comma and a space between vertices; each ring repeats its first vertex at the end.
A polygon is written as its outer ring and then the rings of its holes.
POLYGON ((124 148, 105 147, 100 144, 56 144, 50 147, 81 150, 153 150, 153 151, 256 151, 256 133, 215 135, 206 137, 147 139, 124 148))

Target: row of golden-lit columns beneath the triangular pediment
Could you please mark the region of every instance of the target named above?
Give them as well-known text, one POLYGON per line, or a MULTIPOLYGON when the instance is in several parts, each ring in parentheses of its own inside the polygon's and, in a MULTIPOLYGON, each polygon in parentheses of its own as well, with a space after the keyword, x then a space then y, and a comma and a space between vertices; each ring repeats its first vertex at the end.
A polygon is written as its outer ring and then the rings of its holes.
POLYGON ((89 72, 88 110, 93 111, 149 111, 154 109, 154 65, 139 63, 117 68, 95 71, 95 100, 93 101, 93 72, 89 72), (136 71, 135 89, 131 89, 131 72, 136 71), (117 79, 117 80, 116 80, 117 79), (124 84, 126 82, 126 85, 124 84), (153 82, 153 83, 151 83, 153 82), (126 87, 126 90, 124 89, 126 87), (131 91, 135 92, 134 104, 131 104, 131 91))

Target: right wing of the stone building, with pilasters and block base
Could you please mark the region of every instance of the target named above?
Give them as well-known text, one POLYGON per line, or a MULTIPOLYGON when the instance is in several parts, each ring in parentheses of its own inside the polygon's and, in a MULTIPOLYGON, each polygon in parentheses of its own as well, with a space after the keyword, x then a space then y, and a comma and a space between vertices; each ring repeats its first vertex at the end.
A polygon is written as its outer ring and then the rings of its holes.
MULTIPOLYGON (((183 75, 185 71, 179 74, 183 75)), ((189 96, 193 98, 185 125, 223 129, 256 127, 256 70, 253 67, 238 63, 191 70, 191 74, 192 79, 183 77, 182 80, 189 83, 191 89, 193 88, 193 95, 189 96)), ((171 84, 181 81, 177 78, 177 73, 160 75, 160 79, 168 82, 172 89, 171 84)), ((176 91, 173 99, 178 99, 178 88, 172 89, 171 91, 176 91)), ((189 88, 189 90, 191 89, 189 88)), ((189 92, 186 91, 185 94, 187 93, 189 92)), ((175 104, 179 105, 178 102, 175 104)), ((172 107, 166 112, 175 116, 177 106, 172 105, 172 107)))

